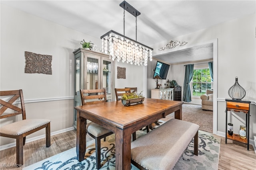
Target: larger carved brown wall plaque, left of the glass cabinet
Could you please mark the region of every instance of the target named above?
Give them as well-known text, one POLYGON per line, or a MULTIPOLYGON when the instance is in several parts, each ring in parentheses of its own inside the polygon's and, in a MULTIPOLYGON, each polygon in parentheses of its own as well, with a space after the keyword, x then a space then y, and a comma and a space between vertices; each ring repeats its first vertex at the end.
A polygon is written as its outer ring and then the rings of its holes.
POLYGON ((25 51, 25 73, 52 74, 52 56, 25 51))

